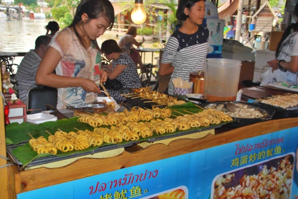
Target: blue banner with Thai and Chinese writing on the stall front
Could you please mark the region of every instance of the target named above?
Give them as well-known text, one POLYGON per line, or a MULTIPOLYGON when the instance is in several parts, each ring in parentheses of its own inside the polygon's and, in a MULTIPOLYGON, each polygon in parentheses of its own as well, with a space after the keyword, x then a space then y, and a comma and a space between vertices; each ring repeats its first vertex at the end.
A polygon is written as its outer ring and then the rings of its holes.
POLYGON ((295 199, 297 140, 298 127, 25 192, 17 198, 295 199))

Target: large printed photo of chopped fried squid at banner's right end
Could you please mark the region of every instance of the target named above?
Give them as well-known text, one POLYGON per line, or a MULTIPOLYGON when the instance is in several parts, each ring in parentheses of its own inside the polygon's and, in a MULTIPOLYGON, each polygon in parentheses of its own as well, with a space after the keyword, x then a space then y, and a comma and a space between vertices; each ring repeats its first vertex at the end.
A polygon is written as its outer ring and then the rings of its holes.
POLYGON ((216 176, 211 199, 290 199, 295 156, 289 153, 216 176))

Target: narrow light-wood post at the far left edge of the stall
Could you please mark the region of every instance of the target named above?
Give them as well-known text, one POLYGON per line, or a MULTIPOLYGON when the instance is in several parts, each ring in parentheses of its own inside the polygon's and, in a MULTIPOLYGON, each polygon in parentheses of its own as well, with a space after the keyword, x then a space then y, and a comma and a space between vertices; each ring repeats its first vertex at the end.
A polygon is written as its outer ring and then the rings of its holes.
MULTIPOLYGON (((1 75, 0 75, 1 77, 1 75)), ((2 92, 2 84, 0 84, 2 92)), ((4 128, 3 99, 0 99, 0 155, 6 157, 6 142, 4 128)), ((0 166, 7 164, 7 160, 0 158, 0 166)), ((0 168, 0 199, 8 199, 8 172, 7 167, 0 168)))

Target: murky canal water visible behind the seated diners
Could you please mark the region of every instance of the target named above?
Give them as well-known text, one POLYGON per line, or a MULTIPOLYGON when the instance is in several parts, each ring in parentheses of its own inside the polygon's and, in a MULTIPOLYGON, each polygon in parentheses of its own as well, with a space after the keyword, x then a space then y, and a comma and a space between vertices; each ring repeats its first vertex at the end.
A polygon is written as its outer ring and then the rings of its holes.
MULTIPOLYGON (((5 20, 6 18, 0 18, 0 52, 26 53, 30 49, 34 49, 35 40, 38 36, 46 34, 44 27, 53 19, 24 18, 22 22, 5 20)), ((106 31, 104 35, 98 38, 98 45, 101 46, 101 43, 107 39, 114 39, 118 42, 119 37, 123 34, 106 31)), ((143 47, 151 48, 152 45, 152 42, 146 42, 143 47)), ((159 57, 159 54, 154 53, 153 57, 159 57)), ((22 57, 16 57, 13 63, 19 65, 21 60, 22 57)), ((145 56, 145 63, 151 63, 151 53, 145 56)), ((155 59, 153 59, 153 65, 156 65, 155 59)))

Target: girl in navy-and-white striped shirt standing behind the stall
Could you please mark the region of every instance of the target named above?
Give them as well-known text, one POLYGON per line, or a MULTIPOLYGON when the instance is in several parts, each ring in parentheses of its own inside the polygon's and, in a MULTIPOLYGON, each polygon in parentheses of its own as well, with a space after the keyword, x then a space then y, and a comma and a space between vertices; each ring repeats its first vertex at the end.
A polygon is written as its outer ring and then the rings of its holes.
POLYGON ((200 26, 205 16, 205 0, 180 0, 176 13, 183 25, 167 41, 158 75, 172 74, 168 93, 173 95, 172 80, 189 80, 189 73, 204 70, 209 47, 209 30, 200 26))

